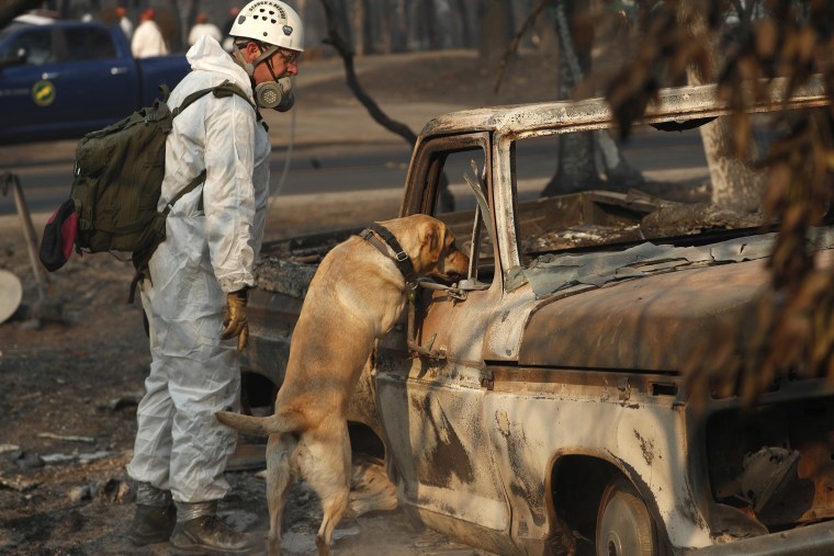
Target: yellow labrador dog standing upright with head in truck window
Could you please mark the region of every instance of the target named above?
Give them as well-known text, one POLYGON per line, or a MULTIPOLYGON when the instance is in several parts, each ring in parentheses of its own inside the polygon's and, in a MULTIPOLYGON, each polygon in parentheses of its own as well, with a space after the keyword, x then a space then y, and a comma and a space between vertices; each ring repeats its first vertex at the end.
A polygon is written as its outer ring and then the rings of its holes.
POLYGON ((469 258, 440 220, 414 215, 371 226, 336 246, 309 284, 290 345, 286 376, 271 417, 221 411, 217 419, 247 434, 269 436, 269 553, 281 552, 281 515, 289 487, 304 478, 318 493, 324 520, 319 555, 348 507, 350 440, 346 412, 374 341, 394 326, 417 276, 451 280, 469 258))

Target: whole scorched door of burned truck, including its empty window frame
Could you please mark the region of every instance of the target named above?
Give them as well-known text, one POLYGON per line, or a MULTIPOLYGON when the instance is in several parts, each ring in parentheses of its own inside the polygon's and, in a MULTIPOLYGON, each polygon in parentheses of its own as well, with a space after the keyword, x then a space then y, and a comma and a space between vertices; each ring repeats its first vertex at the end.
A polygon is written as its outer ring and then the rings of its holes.
MULTIPOLYGON (((487 423, 484 422, 485 367, 481 358, 485 325, 496 295, 489 265, 494 260, 488 234, 475 239, 473 228, 485 230, 491 218, 481 214, 475 194, 467 182, 489 183, 488 135, 454 137, 450 143, 422 145, 416 155, 430 162, 413 162, 409 195, 414 185, 425 186, 420 212, 432 214, 439 184, 449 180, 454 196, 454 212, 436 214, 452 229, 459 247, 473 258, 470 287, 462 295, 443 290, 418 288, 410 318, 414 338, 407 368, 380 371, 377 394, 387 444, 397 468, 406 503, 416 507, 424 519, 438 529, 443 521, 464 521, 478 535, 495 532, 494 542, 503 543, 498 532, 509 527, 509 507, 497 467, 493 463, 487 423), (446 150, 451 145, 453 150, 446 150), (433 150, 431 152, 427 150, 433 150), (473 170, 472 162, 475 169, 473 170), (463 173, 467 178, 463 178, 463 173), (430 198, 430 201, 428 201, 430 198), (477 222, 477 224, 476 224, 477 222), (480 247, 480 249, 478 249, 480 247), (478 257, 483 250, 487 257, 478 257), (474 257, 472 257, 474 254, 474 257)), ((483 201, 488 200, 488 189, 483 201)), ((408 201, 404 203, 406 212, 408 201)), ((488 214, 488 213, 487 213, 488 214)), ((498 287, 500 296, 500 287, 498 287)), ((458 531, 460 533, 460 531, 458 531)), ((511 549, 511 547, 507 547, 511 549)))

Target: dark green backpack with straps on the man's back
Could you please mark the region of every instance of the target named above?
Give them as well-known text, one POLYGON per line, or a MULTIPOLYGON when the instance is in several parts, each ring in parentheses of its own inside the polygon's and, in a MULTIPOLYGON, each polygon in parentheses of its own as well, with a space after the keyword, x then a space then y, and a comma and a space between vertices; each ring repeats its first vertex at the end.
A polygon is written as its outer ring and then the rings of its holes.
MULTIPOLYGON (((162 88, 160 88, 162 89, 162 88)), ((177 201, 205 179, 205 170, 157 211, 165 178, 165 144, 173 118, 195 100, 213 92, 224 98, 237 94, 253 110, 246 93, 230 81, 189 94, 178 107, 168 107, 168 90, 153 106, 134 112, 113 125, 87 134, 76 149, 70 198, 78 217, 76 250, 82 252, 131 252, 136 276, 144 277, 150 256, 165 240, 165 220, 177 201)))

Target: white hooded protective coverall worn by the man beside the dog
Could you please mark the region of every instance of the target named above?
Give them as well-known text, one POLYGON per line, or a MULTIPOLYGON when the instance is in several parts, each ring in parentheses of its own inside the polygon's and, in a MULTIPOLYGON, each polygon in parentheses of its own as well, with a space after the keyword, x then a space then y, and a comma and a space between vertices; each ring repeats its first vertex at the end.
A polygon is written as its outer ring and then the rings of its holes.
MULTIPOLYGON (((201 37, 187 57, 192 71, 171 92, 171 107, 227 79, 251 95, 246 71, 213 38, 201 37)), ((226 294, 253 284, 270 151, 255 110, 235 94, 195 101, 173 120, 166 143, 160 211, 203 169, 207 173, 168 215, 166 240, 142 284, 153 361, 127 474, 170 490, 178 502, 218 500, 229 488, 223 472, 236 432, 214 412, 238 408, 240 362, 237 338, 221 340, 219 333, 226 294)))

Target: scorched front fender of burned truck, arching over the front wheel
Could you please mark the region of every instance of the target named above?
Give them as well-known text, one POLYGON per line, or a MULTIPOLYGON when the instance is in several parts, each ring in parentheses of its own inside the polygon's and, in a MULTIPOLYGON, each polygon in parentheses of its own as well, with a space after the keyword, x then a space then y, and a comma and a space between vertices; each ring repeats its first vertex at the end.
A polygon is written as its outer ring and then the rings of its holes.
POLYGON ((505 383, 515 370, 508 373, 496 373, 484 421, 519 541, 542 546, 556 532, 554 515, 570 518, 570 501, 551 500, 552 492, 542 489, 562 457, 581 454, 628 477, 674 546, 710 543, 706 518, 686 503, 695 498, 686 473, 686 415, 674 396, 632 389, 615 373, 582 386, 505 383))

